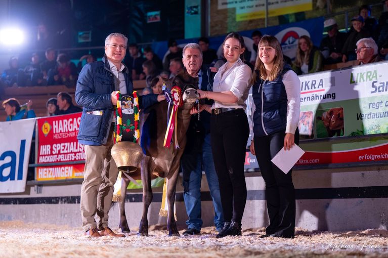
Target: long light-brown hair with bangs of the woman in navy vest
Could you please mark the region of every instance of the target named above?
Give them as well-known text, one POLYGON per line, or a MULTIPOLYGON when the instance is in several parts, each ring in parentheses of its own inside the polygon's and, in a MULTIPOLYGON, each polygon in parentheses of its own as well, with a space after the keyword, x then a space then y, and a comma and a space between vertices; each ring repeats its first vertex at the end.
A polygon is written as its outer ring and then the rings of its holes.
MULTIPOLYGON (((256 58, 256 64, 254 65, 254 70, 258 70, 259 77, 263 80, 274 80, 283 70, 284 66, 284 60, 283 60, 283 52, 282 47, 280 46, 280 43, 278 39, 274 36, 270 35, 264 35, 262 39, 260 39, 260 42, 258 42, 258 49, 257 49, 257 58, 256 58), (275 49, 275 58, 274 58, 274 65, 272 67, 272 70, 269 74, 267 74, 267 70, 264 67, 264 63, 262 60, 260 60, 260 56, 258 55, 259 49, 261 47, 271 47, 275 49)), ((256 73, 253 73, 252 78, 252 84, 256 82, 256 73)))

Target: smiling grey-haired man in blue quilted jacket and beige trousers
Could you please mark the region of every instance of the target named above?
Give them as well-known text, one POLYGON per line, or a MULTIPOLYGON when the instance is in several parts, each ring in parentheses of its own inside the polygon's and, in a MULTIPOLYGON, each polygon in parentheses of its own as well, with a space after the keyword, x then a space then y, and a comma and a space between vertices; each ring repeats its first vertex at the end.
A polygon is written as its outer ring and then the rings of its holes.
MULTIPOLYGON (((124 237, 108 227, 108 211, 112 202, 113 184, 118 175, 117 169, 109 171, 116 95, 117 91, 122 95, 133 94, 129 71, 122 63, 127 41, 123 34, 109 34, 105 39, 103 60, 86 64, 82 68, 75 90, 75 101, 83 107, 77 136, 85 150, 81 187, 82 227, 85 235, 93 237, 124 237), (98 222, 94 219, 96 213, 98 222)), ((145 108, 163 99, 163 95, 148 94, 139 97, 139 105, 145 108)))

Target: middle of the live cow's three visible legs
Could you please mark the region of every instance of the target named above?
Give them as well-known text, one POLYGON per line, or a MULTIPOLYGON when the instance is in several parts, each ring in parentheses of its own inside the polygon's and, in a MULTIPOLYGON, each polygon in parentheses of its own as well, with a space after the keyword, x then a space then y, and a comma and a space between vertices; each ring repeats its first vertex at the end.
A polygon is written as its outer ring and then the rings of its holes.
POLYGON ((151 173, 152 168, 150 166, 151 163, 150 157, 145 157, 142 160, 142 184, 143 184, 143 216, 139 225, 139 236, 148 236, 148 207, 152 202, 152 189, 151 189, 151 173))

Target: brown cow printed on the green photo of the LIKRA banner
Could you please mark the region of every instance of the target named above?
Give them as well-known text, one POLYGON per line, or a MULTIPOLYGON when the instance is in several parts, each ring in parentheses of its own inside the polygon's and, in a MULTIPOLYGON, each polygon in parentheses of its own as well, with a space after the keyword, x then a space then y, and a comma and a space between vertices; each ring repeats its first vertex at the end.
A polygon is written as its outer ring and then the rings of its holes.
POLYGON ((322 120, 329 137, 341 136, 343 133, 343 108, 331 108, 317 117, 322 120))

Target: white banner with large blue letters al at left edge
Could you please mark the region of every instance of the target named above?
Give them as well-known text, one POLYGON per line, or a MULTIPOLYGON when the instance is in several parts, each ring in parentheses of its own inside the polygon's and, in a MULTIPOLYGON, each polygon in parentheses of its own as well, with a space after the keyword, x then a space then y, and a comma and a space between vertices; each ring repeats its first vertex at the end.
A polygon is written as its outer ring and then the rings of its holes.
POLYGON ((0 122, 0 193, 25 191, 35 118, 0 122))

